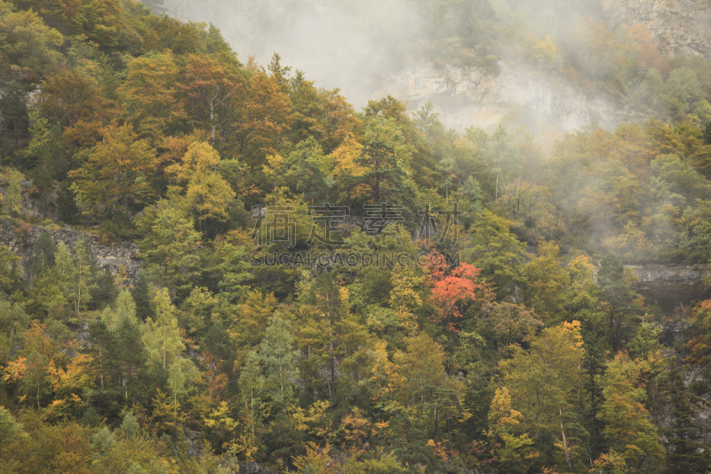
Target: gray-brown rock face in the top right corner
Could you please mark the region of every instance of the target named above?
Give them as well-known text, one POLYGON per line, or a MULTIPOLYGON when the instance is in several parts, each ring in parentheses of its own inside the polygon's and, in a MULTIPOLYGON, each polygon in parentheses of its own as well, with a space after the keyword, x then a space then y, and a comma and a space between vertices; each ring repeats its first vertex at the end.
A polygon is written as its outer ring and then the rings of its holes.
POLYGON ((711 58, 711 0, 602 0, 602 4, 612 25, 647 25, 665 55, 711 58))

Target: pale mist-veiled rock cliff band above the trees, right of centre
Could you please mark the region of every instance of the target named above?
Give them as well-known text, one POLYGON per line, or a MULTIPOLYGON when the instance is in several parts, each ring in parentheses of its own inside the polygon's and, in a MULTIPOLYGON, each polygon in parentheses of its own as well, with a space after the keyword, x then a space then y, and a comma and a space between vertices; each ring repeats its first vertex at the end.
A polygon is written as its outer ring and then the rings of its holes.
POLYGON ((389 76, 383 90, 419 106, 433 100, 443 123, 463 130, 499 124, 506 116, 525 116, 540 131, 572 131, 592 122, 613 128, 632 119, 602 97, 590 98, 562 78, 546 78, 527 68, 500 61, 498 76, 474 67, 435 66, 421 62, 389 76))

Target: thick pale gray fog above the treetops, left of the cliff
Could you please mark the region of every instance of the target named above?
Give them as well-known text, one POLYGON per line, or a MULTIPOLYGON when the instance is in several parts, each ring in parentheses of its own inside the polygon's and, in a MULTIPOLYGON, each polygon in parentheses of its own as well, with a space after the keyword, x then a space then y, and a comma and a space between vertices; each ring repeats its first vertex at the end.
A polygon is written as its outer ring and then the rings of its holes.
POLYGON ((212 22, 240 60, 267 65, 274 52, 316 86, 340 88, 363 105, 383 76, 412 59, 408 47, 425 29, 417 4, 398 0, 279 2, 166 0, 166 14, 212 22))

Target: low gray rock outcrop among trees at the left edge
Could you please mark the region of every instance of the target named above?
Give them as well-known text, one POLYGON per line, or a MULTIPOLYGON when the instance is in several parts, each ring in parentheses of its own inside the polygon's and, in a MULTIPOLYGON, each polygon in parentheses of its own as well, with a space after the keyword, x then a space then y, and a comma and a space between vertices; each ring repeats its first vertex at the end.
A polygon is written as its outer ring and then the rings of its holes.
MULTIPOLYGON (((9 221, 3 221, 0 226, 0 245, 9 247, 12 253, 20 257, 20 276, 22 277, 26 276, 25 269, 32 256, 33 245, 43 231, 46 231, 55 243, 64 242, 70 249, 76 240, 83 236, 81 232, 68 226, 64 229, 52 229, 27 225, 16 229, 9 221)), ((101 269, 108 269, 112 275, 123 271, 131 279, 138 273, 140 261, 138 260, 139 248, 137 245, 132 242, 102 244, 96 237, 89 235, 84 235, 84 240, 101 269)))

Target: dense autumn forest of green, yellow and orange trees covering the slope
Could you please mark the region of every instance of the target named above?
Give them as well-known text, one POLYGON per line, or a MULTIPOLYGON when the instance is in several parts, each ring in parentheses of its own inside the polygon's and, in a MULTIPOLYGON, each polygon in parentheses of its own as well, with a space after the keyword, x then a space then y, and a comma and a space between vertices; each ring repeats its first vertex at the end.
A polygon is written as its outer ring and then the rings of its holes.
POLYGON ((0 245, 0 472, 711 470, 711 300, 664 314, 626 267, 711 259, 711 62, 587 12, 558 45, 521 5, 413 4, 420 59, 518 55, 643 118, 544 149, 356 110, 159 5, 0 0, 28 243, 0 245))

